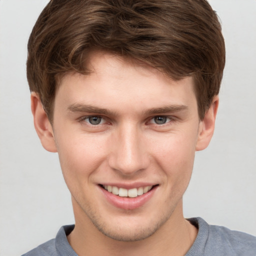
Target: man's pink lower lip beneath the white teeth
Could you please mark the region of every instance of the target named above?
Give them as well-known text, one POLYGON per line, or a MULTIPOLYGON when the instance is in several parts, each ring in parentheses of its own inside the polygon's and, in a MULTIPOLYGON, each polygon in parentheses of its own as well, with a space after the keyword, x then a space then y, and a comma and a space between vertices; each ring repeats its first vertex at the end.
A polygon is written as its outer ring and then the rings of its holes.
POLYGON ((132 210, 141 207, 145 204, 152 196, 156 190, 157 186, 151 188, 148 192, 138 195, 137 197, 122 197, 115 194, 108 192, 103 187, 99 186, 101 191, 103 192, 105 198, 108 202, 110 202, 115 207, 125 209, 125 210, 132 210))

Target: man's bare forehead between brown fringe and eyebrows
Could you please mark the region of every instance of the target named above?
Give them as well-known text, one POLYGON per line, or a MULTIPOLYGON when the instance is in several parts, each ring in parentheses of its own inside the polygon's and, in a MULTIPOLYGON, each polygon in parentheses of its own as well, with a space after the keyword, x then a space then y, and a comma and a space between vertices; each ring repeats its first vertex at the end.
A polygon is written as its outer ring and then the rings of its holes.
POLYGON ((146 63, 99 51, 90 54, 87 67, 88 75, 73 72, 61 79, 57 102, 146 111, 196 101, 192 77, 174 81, 146 63))

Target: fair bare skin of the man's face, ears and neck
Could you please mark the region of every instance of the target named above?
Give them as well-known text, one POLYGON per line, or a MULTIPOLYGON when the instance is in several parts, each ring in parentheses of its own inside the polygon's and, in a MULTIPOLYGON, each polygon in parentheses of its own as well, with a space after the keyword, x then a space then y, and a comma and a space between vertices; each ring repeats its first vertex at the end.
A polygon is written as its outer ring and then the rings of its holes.
POLYGON ((58 152, 72 196, 69 243, 79 255, 184 255, 197 229, 183 217, 182 196, 194 153, 212 136, 218 97, 199 120, 191 77, 173 81, 106 52, 93 52, 89 67, 89 75, 62 78, 52 125, 31 94, 37 134, 46 150, 58 152), (156 123, 159 116, 166 121, 156 123), (99 184, 154 189, 129 209, 106 200, 99 184))

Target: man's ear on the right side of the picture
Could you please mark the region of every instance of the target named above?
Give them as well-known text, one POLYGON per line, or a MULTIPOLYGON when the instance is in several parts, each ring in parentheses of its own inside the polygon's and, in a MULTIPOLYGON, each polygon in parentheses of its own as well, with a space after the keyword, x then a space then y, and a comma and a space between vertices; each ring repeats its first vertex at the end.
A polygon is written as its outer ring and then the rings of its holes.
POLYGON ((214 96, 210 107, 205 112, 203 119, 199 123, 199 133, 195 147, 196 151, 203 150, 208 146, 214 131, 217 109, 218 95, 214 96))

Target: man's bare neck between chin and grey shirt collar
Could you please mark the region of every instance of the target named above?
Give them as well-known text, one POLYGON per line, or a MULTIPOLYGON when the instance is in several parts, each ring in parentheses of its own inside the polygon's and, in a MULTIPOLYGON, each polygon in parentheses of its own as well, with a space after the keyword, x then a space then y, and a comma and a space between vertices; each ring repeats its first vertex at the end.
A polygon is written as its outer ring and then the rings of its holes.
POLYGON ((67 236, 71 247, 79 256, 106 255, 184 255, 193 244, 197 229, 182 213, 182 200, 170 218, 151 236, 138 241, 117 241, 102 234, 82 210, 76 209, 75 228, 67 236))

